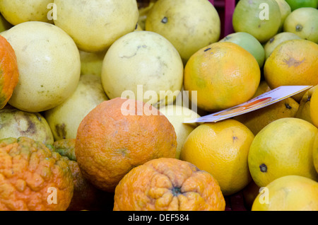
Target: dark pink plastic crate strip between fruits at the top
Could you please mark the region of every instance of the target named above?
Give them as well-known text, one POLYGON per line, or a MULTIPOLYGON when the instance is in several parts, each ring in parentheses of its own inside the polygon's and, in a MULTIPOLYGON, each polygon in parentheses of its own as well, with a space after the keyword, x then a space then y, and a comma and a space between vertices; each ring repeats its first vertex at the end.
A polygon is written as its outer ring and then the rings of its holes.
POLYGON ((236 5, 235 0, 208 0, 218 11, 221 21, 221 35, 220 38, 234 33, 232 26, 232 16, 236 5))

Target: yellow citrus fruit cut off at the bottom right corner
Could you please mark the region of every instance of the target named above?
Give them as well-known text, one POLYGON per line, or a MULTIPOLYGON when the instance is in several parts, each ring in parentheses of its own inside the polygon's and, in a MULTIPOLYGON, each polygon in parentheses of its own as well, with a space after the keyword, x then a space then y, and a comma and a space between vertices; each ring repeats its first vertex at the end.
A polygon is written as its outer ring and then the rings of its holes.
POLYGON ((300 175, 273 180, 259 193, 252 211, 318 211, 318 183, 300 175))

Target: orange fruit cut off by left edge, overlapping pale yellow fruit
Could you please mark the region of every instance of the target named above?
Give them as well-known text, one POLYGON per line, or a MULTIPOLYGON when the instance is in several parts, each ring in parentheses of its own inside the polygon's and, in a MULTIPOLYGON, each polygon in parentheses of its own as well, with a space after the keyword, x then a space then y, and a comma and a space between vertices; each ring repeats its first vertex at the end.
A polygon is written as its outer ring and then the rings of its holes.
POLYGON ((0 35, 0 109, 11 98, 13 89, 18 84, 18 63, 16 53, 6 38, 0 35))

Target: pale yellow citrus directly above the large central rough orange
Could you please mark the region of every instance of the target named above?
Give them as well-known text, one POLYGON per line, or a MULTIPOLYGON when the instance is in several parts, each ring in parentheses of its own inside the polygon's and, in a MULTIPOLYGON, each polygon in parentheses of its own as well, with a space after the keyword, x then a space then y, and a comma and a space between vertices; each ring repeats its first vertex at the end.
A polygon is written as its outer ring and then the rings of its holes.
POLYGON ((133 98, 158 107, 175 100, 183 74, 182 59, 171 42, 140 30, 120 37, 107 50, 101 79, 110 99, 133 98))

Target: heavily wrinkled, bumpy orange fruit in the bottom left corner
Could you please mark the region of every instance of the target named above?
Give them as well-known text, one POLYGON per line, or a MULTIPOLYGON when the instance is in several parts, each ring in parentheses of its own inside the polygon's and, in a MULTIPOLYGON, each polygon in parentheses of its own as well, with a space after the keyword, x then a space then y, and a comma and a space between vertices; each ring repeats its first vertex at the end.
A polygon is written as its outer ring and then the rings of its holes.
POLYGON ((28 137, 0 141, 0 211, 64 211, 73 178, 60 154, 28 137))

